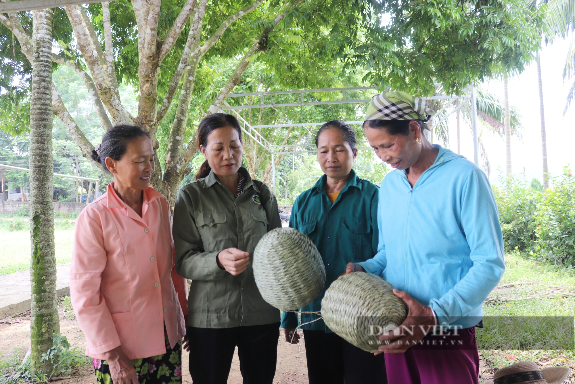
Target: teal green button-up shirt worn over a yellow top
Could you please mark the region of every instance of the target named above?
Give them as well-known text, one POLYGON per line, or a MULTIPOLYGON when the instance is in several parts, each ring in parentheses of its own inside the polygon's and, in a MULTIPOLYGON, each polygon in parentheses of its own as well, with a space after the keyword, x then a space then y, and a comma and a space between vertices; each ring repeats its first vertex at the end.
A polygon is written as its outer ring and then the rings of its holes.
MULTIPOLYGON (((351 170, 346 186, 331 203, 321 176, 313 188, 301 193, 293 203, 289 226, 309 236, 321 254, 325 265, 325 286, 320 295, 301 311, 320 311, 325 290, 346 271, 350 261, 360 263, 377 253, 378 192, 379 187, 359 178, 351 170)), ((315 314, 301 314, 301 323, 318 318, 315 314)), ((297 314, 284 312, 282 328, 296 328, 297 314)), ((302 325, 302 329, 332 332, 323 320, 302 325)))

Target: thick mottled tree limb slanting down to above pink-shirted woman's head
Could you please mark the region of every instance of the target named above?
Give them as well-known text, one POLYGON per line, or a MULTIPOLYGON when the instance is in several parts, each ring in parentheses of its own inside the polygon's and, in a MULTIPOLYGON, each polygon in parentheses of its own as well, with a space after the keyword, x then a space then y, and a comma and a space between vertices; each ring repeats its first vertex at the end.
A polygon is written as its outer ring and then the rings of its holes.
MULTIPOLYGON (((133 124, 134 118, 121 104, 116 94, 110 88, 108 76, 105 73, 101 57, 98 56, 97 48, 90 37, 90 32, 82 20, 82 11, 79 6, 67 6, 66 13, 70 19, 70 24, 74 29, 78 48, 82 52, 83 59, 96 83, 98 96, 110 112, 110 115, 120 124, 133 124)), ((99 43, 98 43, 99 45, 99 43)), ((100 47, 101 51, 101 47, 100 47)))

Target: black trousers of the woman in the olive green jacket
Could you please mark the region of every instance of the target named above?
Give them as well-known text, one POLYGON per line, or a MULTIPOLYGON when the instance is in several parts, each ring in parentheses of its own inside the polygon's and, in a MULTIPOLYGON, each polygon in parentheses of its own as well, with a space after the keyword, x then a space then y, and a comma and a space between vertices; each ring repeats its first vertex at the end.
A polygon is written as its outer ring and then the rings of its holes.
POLYGON ((226 384, 237 345, 244 384, 272 384, 279 322, 234 328, 189 326, 190 374, 194 384, 226 384))

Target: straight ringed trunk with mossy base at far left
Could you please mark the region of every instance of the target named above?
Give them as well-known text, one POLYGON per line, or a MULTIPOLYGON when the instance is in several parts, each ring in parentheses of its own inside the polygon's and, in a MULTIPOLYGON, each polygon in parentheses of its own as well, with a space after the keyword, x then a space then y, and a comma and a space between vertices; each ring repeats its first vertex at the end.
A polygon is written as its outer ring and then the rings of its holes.
POLYGON ((56 257, 52 206, 52 10, 33 10, 32 97, 30 97, 30 362, 33 375, 52 370, 42 353, 60 333, 56 305, 56 257))

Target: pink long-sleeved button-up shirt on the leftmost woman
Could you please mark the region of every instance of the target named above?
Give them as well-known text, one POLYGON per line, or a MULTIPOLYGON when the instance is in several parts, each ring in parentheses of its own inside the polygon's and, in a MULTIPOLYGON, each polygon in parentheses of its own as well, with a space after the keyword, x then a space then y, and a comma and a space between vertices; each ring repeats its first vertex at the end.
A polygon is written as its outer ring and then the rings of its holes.
POLYGON ((175 272, 166 197, 144 191, 142 216, 114 192, 76 219, 70 296, 86 335, 86 355, 105 359, 118 345, 130 359, 166 353, 185 335, 186 279, 175 272))

